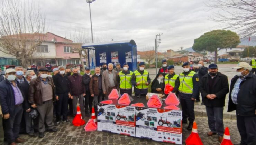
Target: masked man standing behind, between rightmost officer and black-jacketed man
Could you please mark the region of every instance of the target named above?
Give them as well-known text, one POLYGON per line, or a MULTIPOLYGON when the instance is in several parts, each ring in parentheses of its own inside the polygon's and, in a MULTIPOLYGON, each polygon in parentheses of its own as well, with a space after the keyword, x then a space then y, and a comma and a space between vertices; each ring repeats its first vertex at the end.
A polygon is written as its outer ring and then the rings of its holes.
MULTIPOLYGON (((198 74, 199 77, 199 81, 201 81, 202 77, 207 74, 208 72, 208 68, 204 66, 203 61, 199 61, 198 62, 198 67, 193 67, 194 71, 198 74)), ((201 95, 202 96, 202 95, 201 95)), ((203 105, 203 99, 204 97, 202 97, 202 103, 201 105, 203 105)), ((196 97, 196 102, 200 102, 200 95, 198 94, 198 96, 196 97)))

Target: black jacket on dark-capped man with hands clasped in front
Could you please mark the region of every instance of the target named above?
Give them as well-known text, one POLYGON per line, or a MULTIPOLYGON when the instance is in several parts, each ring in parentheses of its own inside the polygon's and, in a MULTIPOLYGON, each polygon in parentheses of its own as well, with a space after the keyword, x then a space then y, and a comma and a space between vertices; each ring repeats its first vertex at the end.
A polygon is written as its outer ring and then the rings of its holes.
POLYGON ((209 88, 209 79, 211 78, 208 73, 204 75, 200 81, 200 92, 202 97, 204 97, 204 105, 209 107, 224 107, 226 94, 228 94, 229 91, 228 77, 218 72, 212 88, 209 88), (216 98, 213 100, 206 98, 206 96, 210 94, 210 90, 212 92, 211 94, 216 95, 216 98))

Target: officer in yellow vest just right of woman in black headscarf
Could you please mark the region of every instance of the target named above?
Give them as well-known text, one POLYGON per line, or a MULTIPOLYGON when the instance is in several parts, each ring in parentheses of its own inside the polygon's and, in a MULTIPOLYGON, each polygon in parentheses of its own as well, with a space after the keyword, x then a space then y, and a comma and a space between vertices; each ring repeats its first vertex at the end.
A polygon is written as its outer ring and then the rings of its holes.
MULTIPOLYGON (((178 91, 178 88, 180 86, 180 80, 179 80, 179 75, 175 74, 174 72, 174 65, 170 65, 168 67, 169 74, 165 75, 164 77, 164 84, 170 84, 173 87, 172 92, 175 93, 178 91)), ((168 94, 165 94, 168 95, 168 94)))

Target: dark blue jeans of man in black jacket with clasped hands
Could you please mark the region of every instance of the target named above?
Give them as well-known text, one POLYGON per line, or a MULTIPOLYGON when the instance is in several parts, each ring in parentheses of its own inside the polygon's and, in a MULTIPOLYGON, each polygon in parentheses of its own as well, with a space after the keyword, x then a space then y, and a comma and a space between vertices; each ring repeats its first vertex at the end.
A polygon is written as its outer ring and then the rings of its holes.
POLYGON ((219 136, 224 135, 223 109, 224 107, 206 106, 208 126, 212 132, 218 133, 219 136))

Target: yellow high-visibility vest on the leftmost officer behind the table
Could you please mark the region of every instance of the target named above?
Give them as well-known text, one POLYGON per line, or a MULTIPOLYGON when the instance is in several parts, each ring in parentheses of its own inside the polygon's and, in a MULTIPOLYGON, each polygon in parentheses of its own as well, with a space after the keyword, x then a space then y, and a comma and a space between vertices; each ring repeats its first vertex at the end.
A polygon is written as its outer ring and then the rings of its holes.
POLYGON ((131 84, 131 76, 133 72, 130 71, 130 74, 124 74, 122 71, 119 72, 119 77, 120 77, 120 89, 131 89, 132 84, 131 84))

